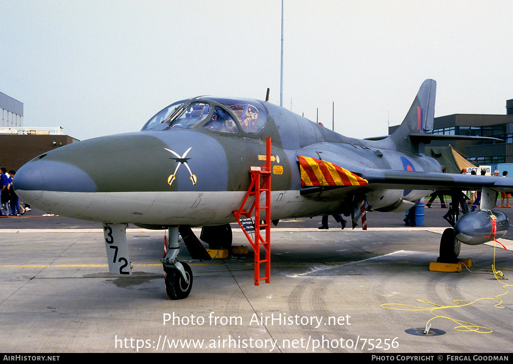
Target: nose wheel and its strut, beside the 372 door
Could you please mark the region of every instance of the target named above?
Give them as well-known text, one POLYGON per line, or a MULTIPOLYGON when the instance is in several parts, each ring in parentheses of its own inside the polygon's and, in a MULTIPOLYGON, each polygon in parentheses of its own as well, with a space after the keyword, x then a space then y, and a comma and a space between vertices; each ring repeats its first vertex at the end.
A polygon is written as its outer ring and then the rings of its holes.
POLYGON ((170 299, 187 298, 192 288, 191 268, 187 263, 177 259, 180 252, 178 235, 178 227, 169 228, 169 245, 164 238, 164 257, 161 259, 166 293, 170 299))

